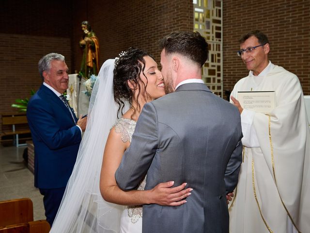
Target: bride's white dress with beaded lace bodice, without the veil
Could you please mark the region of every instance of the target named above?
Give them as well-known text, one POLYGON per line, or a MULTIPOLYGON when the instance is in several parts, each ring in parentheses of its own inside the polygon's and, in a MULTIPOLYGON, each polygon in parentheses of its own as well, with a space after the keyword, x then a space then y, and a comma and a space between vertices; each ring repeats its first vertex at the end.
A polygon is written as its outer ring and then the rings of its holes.
MULTIPOLYGON (((136 121, 120 118, 113 125, 116 133, 122 134, 123 142, 131 142, 132 134, 135 131, 136 121)), ((112 129, 113 130, 113 129, 112 129)), ((144 190, 146 178, 140 183, 138 190, 144 190)), ((142 206, 127 206, 121 216, 121 233, 142 232, 142 206)))

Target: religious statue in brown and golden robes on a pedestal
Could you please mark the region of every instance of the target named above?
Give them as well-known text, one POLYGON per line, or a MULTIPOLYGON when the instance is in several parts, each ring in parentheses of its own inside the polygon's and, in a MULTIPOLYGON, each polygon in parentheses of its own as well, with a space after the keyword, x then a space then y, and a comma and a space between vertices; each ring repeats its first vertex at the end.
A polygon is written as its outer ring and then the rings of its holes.
POLYGON ((88 21, 82 22, 83 36, 79 46, 83 50, 83 58, 79 76, 89 79, 92 74, 99 71, 99 41, 88 21))

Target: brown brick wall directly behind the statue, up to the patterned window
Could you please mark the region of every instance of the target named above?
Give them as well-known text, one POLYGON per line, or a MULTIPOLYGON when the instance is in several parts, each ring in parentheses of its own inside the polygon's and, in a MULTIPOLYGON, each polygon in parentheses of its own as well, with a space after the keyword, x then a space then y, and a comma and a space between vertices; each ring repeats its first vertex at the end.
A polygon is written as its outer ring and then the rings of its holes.
POLYGON ((159 63, 157 41, 176 30, 193 30, 190 0, 92 0, 74 5, 74 67, 79 70, 82 53, 78 41, 81 22, 88 19, 100 43, 100 66, 130 46, 145 49, 159 63), (88 13, 85 9, 89 9, 88 13))

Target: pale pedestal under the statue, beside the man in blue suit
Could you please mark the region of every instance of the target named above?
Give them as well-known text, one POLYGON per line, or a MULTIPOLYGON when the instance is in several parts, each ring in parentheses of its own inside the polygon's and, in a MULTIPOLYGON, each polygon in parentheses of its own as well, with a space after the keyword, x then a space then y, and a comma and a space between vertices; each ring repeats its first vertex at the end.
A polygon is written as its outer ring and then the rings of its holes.
POLYGON ((85 81, 86 79, 84 77, 79 78, 78 74, 69 74, 67 94, 70 96, 69 104, 77 117, 88 113, 89 97, 83 93, 85 91, 85 81))

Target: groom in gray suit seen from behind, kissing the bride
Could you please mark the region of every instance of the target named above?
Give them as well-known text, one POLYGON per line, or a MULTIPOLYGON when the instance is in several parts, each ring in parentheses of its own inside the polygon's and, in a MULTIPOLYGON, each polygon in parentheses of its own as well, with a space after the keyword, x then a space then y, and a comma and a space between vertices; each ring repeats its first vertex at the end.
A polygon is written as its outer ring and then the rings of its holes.
POLYGON ((143 233, 228 233, 226 194, 242 161, 238 109, 202 81, 208 44, 198 32, 174 32, 160 41, 162 75, 174 93, 144 105, 115 173, 124 190, 186 182, 192 195, 181 206, 143 206, 143 233))

